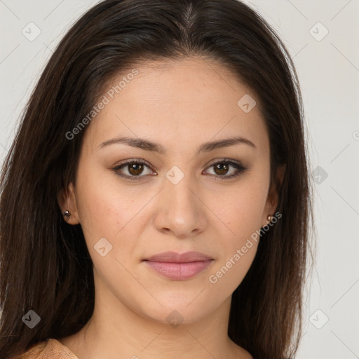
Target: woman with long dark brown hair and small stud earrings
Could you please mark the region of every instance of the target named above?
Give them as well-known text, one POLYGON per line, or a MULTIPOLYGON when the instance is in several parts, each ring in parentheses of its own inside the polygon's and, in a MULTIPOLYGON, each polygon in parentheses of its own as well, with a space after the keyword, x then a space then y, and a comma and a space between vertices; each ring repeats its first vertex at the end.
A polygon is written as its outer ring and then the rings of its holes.
POLYGON ((1 358, 293 358, 307 161, 292 61, 255 11, 100 2, 4 163, 1 358))

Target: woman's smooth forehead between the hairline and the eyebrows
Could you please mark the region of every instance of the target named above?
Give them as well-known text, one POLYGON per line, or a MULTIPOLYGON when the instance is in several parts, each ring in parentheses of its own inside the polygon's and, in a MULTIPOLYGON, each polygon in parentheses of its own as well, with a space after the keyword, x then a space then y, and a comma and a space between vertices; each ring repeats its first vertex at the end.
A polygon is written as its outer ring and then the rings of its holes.
POLYGON ((104 88, 100 99, 107 97, 108 103, 88 128, 93 147, 120 135, 147 137, 177 148, 241 135, 268 151, 259 106, 246 112, 240 101, 259 100, 219 63, 186 58, 140 63, 133 69, 121 72, 104 88), (133 69, 137 74, 129 76, 133 69))

